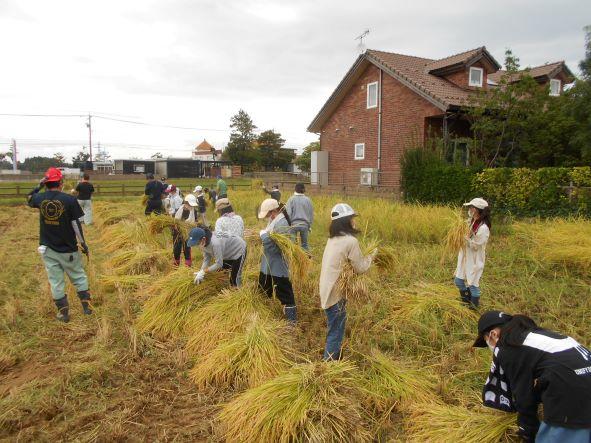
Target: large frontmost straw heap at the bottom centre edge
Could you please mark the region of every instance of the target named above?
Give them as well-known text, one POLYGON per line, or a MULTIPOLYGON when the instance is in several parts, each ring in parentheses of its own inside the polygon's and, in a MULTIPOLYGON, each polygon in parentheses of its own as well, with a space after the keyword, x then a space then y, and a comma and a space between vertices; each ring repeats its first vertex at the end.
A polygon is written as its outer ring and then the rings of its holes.
POLYGON ((358 369, 346 361, 293 366, 220 413, 227 441, 371 441, 358 369))

